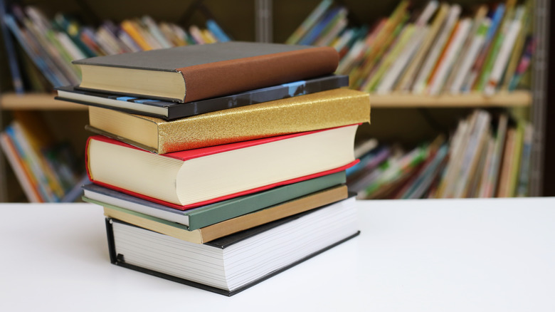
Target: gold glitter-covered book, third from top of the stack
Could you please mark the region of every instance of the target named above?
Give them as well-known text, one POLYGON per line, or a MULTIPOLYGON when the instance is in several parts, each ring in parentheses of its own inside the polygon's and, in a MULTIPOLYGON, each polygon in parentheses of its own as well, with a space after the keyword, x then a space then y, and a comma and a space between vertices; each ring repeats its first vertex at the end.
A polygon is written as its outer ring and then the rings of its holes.
POLYGON ((172 121, 89 106, 87 129, 165 154, 369 122, 368 93, 338 88, 172 121))

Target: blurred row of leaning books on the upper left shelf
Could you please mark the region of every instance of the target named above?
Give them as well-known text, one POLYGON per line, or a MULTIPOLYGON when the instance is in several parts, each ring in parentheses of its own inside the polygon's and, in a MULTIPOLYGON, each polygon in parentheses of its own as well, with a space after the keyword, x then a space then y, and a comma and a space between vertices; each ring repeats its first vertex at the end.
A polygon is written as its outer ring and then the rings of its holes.
MULTIPOLYGON (((80 69, 71 62, 83 58, 231 40, 213 19, 207 19, 203 28, 196 25, 183 28, 154 21, 148 15, 120 23, 107 20, 100 26, 87 26, 67 14, 58 13, 49 19, 34 6, 12 6, 4 13, 2 22, 25 52, 25 56, 20 55, 25 58, 21 62, 16 59, 17 53, 9 53, 18 93, 24 90, 22 77, 31 80, 26 83, 32 90, 43 92, 50 92, 52 87, 78 84, 80 69), (23 75, 19 63, 23 63, 23 75)), ((6 40, 11 42, 11 38, 6 40)), ((6 48, 13 50, 14 45, 6 42, 6 48)))

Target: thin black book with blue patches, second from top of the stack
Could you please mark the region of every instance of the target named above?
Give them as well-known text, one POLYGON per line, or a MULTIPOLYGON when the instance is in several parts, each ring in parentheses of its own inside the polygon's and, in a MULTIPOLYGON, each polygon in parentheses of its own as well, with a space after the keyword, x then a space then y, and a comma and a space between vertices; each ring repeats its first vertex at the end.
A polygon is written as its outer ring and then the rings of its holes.
POLYGON ((110 93, 80 90, 75 88, 75 86, 65 86, 56 88, 56 90, 58 90, 56 99, 93 105, 100 108, 112 108, 125 113, 148 115, 164 120, 175 120, 178 118, 210 113, 216 110, 225 110, 228 108, 268 102, 270 100, 291 98, 297 95, 347 87, 348 85, 349 76, 329 75, 189 103, 132 98, 110 93))

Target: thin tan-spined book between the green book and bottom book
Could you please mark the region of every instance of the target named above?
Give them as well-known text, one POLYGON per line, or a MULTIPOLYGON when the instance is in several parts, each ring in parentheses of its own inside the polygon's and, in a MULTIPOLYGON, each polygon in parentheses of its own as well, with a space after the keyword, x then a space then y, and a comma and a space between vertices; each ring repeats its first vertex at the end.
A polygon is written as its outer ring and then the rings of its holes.
POLYGON ((219 239, 223 236, 244 231, 253 227, 258 227, 268 222, 273 222, 277 219, 290 217, 293 214, 300 214, 310 209, 322 207, 327 204, 338 202, 339 200, 347 198, 347 187, 337 186, 330 189, 324 189, 319 192, 307 194, 305 196, 290 199, 280 204, 275 204, 272 207, 259 209, 255 212, 242 214, 238 217, 231 219, 224 219, 206 227, 199 229, 189 229, 184 224, 170 222, 157 217, 149 216, 141 212, 134 212, 122 207, 113 206, 110 204, 102 204, 101 202, 93 202, 100 204, 104 207, 104 214, 106 217, 118 219, 129 224, 149 229, 154 232, 165 234, 176 239, 183 241, 190 241, 195 244, 205 244, 208 241, 219 239))

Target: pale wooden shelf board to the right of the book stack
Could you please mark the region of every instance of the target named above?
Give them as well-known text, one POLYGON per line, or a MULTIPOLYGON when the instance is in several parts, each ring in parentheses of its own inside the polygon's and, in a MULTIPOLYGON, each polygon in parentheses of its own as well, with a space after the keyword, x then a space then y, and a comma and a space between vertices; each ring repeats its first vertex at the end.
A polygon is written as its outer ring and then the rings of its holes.
POLYGON ((371 108, 488 108, 522 107, 532 105, 532 93, 524 90, 500 92, 487 96, 482 93, 460 95, 414 95, 411 93, 371 94, 371 108))

